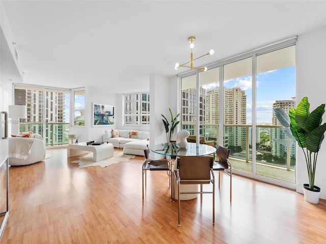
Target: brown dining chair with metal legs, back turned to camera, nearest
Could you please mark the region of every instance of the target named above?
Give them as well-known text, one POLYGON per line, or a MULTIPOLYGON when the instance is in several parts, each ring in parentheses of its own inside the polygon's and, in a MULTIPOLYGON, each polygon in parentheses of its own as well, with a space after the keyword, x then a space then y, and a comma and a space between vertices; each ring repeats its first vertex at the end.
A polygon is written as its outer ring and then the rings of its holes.
POLYGON ((173 171, 178 189, 178 226, 180 224, 181 194, 200 194, 201 201, 204 193, 211 193, 213 199, 213 225, 215 224, 215 177, 213 173, 214 159, 204 156, 178 157, 176 170, 173 171), (203 191, 203 184, 212 184, 212 191, 203 191), (180 185, 200 185, 200 191, 181 192, 180 185))

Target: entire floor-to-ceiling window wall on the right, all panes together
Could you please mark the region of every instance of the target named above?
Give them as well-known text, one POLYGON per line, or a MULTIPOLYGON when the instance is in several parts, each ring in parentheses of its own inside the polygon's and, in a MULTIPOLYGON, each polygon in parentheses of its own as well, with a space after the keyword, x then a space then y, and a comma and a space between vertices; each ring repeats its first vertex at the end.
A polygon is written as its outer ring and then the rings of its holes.
POLYGON ((287 187, 295 182, 295 144, 279 143, 287 138, 273 108, 295 107, 295 41, 180 76, 181 129, 230 148, 235 172, 287 187))

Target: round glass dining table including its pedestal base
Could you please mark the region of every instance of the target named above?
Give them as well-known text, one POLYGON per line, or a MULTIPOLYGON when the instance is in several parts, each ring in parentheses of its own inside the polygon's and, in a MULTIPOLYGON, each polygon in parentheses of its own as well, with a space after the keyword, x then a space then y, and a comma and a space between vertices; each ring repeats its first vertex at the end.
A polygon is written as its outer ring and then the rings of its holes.
MULTIPOLYGON (((185 148, 180 148, 176 142, 169 143, 160 143, 154 145, 154 148, 151 148, 156 154, 164 155, 171 157, 171 159, 176 157, 186 157, 186 156, 207 156, 210 154, 214 154, 216 152, 216 148, 213 146, 209 146, 206 144, 199 144, 197 146, 196 143, 188 142, 185 148)), ((172 160, 171 160, 172 161, 172 160)), ((175 169, 176 164, 174 164, 173 169, 175 169)), ((173 187, 176 189, 176 182, 173 181, 173 187)), ((183 192, 196 192, 198 191, 198 185, 181 185, 181 191, 183 192)), ((173 199, 178 199, 178 196, 173 192, 173 199)), ((191 200, 197 198, 198 194, 182 194, 180 196, 180 200, 191 200)))

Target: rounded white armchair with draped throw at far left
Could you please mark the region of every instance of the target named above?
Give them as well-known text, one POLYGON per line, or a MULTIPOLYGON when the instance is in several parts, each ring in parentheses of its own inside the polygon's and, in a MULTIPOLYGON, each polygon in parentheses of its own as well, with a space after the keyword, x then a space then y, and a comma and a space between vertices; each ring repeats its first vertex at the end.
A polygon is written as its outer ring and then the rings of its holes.
POLYGON ((34 138, 9 137, 9 165, 29 165, 45 158, 45 143, 41 135, 34 138))

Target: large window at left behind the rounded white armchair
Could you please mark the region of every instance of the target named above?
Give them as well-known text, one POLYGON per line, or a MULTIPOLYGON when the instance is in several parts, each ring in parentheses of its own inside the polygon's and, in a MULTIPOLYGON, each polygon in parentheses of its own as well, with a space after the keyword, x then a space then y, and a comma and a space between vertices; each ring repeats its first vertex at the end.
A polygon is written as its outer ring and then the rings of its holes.
POLYGON ((42 135, 46 145, 69 142, 69 90, 15 84, 15 105, 25 105, 25 119, 19 131, 42 135))

